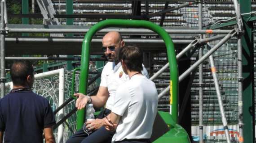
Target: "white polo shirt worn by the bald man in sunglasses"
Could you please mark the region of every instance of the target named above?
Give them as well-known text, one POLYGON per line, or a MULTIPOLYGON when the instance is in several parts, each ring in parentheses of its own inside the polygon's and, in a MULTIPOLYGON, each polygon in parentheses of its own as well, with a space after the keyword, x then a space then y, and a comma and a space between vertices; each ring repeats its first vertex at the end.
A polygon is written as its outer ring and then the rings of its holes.
MULTIPOLYGON (((149 78, 146 68, 144 67, 144 65, 142 65, 142 67, 143 70, 141 71, 141 73, 149 78)), ((100 86, 108 88, 109 97, 106 102, 107 109, 111 110, 114 105, 116 89, 119 87, 120 84, 123 84, 128 80, 129 76, 124 73, 121 63, 118 63, 117 65, 115 65, 115 62, 106 63, 102 70, 100 86)))

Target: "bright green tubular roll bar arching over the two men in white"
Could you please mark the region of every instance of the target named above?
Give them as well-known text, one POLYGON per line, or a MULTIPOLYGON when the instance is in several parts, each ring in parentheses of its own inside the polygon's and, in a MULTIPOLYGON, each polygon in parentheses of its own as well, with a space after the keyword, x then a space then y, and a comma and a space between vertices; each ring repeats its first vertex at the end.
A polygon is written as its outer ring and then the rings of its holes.
MULTIPOLYGON (((93 35, 97 31, 106 27, 133 27, 133 28, 146 28, 159 34, 166 45, 168 62, 170 67, 170 106, 171 114, 174 122, 177 123, 177 96, 178 96, 178 67, 174 45, 172 38, 169 34, 159 25, 156 25, 150 21, 139 21, 139 20, 121 20, 121 19, 110 19, 101 21, 94 25, 86 33, 82 45, 82 56, 81 56, 81 71, 79 80, 79 93, 87 93, 88 84, 88 68, 90 58, 90 43, 93 35)), ((77 130, 79 130, 84 124, 84 109, 78 111, 77 118, 77 130)))

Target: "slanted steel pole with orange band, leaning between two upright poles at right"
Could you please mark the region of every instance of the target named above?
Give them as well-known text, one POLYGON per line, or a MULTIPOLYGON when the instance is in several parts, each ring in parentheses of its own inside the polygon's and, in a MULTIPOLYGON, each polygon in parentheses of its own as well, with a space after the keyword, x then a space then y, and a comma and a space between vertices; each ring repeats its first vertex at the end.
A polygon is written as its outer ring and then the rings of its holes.
MULTIPOLYGON (((208 48, 208 50, 210 50, 211 46, 209 46, 207 44, 207 48, 208 48)), ((225 136, 226 136, 226 139, 227 139, 227 143, 231 143, 228 123, 227 123, 227 119, 226 119, 224 108, 223 108, 223 102, 222 102, 222 99, 221 99, 220 86, 219 86, 219 82, 218 82, 218 78, 217 78, 217 74, 216 74, 216 67, 214 65, 214 60, 213 60, 212 55, 209 56, 209 62, 211 64, 212 77, 213 77, 213 81, 214 81, 214 85, 215 85, 215 89, 216 89, 216 94, 217 94, 217 98, 218 98, 219 107, 220 107, 220 110, 221 110, 221 119, 222 119, 222 123, 223 123, 223 128, 225 130, 225 136)))

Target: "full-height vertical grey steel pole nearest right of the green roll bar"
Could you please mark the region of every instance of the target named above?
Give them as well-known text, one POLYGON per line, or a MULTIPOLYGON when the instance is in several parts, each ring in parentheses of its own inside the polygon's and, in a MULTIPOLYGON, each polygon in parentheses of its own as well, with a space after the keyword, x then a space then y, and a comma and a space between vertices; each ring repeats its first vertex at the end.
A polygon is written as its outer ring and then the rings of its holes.
MULTIPOLYGON (((202 29, 202 3, 199 0, 198 4, 198 28, 202 29)), ((200 34, 200 39, 202 39, 202 35, 200 34)), ((201 59, 203 56, 203 46, 199 47, 198 58, 201 59)), ((203 143, 203 63, 199 65, 199 143, 203 143)))

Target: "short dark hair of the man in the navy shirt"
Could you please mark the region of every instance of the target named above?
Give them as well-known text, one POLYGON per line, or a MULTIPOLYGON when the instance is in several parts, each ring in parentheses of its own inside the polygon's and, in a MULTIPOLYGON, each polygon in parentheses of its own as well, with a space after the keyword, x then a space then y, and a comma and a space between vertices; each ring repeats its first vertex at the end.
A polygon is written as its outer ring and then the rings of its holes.
POLYGON ((29 61, 15 61, 11 67, 11 78, 14 85, 26 85, 26 77, 34 76, 34 69, 29 61))

